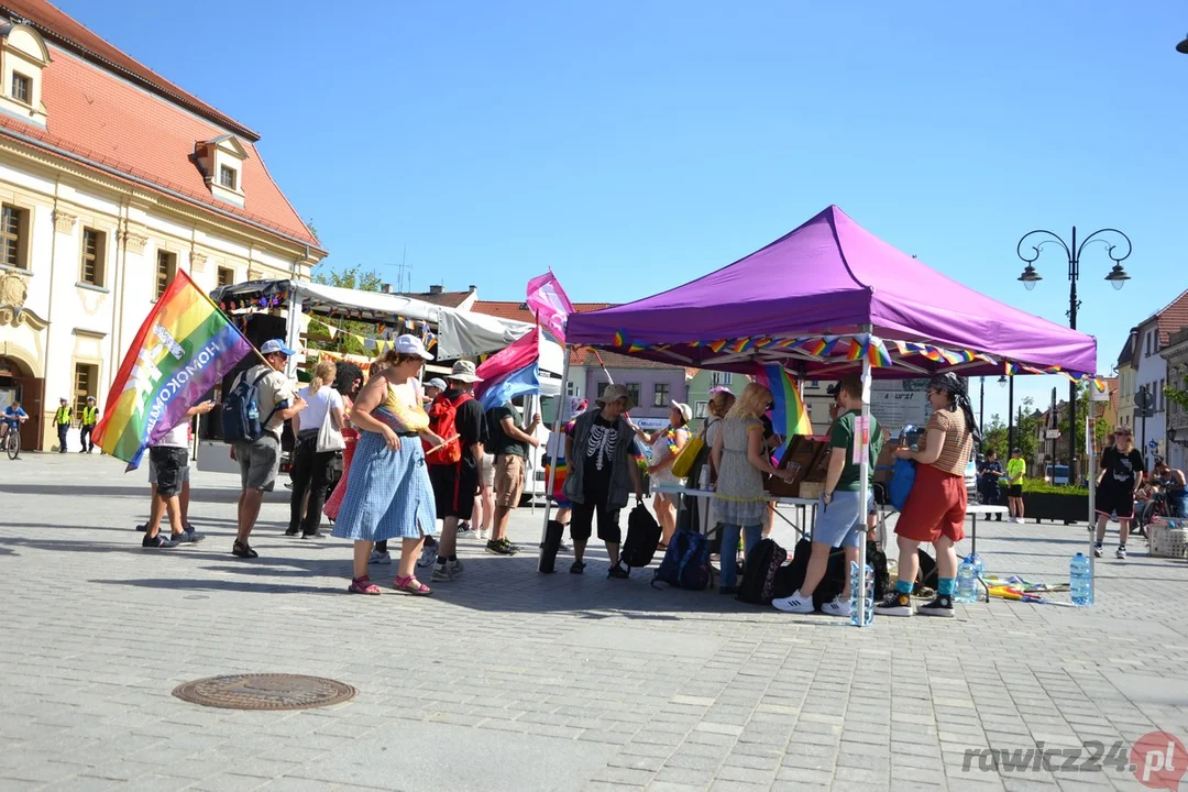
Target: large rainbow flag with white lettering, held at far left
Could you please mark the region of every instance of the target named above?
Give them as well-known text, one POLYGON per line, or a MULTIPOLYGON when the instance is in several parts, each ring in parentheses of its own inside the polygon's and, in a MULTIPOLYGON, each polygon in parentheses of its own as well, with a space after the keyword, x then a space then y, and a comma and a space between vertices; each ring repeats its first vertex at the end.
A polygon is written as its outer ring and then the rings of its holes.
POLYGON ((251 353, 244 334, 179 271, 124 356, 95 443, 135 470, 145 449, 251 353))

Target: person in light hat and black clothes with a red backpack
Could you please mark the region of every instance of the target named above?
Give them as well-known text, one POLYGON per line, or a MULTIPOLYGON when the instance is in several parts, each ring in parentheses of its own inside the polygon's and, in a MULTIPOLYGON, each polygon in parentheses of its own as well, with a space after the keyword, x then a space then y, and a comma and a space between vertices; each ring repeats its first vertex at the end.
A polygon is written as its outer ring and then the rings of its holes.
POLYGON ((438 449, 425 449, 437 517, 443 525, 437 540, 435 583, 462 575, 457 524, 474 512, 474 498, 482 481, 482 446, 487 442, 487 422, 473 394, 474 384, 481 381, 474 373, 474 363, 460 360, 446 378, 446 392, 429 405, 429 429, 446 441, 438 449))

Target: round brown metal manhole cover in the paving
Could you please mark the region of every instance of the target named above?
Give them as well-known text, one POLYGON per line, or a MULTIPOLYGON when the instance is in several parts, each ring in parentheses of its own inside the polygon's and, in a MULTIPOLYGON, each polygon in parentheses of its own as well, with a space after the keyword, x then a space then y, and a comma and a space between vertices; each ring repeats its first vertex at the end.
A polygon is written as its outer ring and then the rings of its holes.
POLYGON ((334 679, 295 673, 208 677, 173 689, 182 701, 233 710, 307 710, 350 701, 355 692, 334 679))

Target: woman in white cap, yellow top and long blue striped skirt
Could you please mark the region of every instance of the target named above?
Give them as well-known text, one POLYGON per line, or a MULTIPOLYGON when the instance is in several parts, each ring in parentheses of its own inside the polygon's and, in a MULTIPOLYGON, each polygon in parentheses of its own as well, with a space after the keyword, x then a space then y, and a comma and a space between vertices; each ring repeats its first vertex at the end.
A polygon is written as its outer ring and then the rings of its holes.
POLYGON ((400 336, 383 357, 388 367, 372 378, 350 410, 361 436, 334 536, 355 541, 354 578, 347 589, 352 594, 380 593, 367 576, 367 562, 372 546, 387 539, 403 541, 392 588, 416 596, 431 594, 415 576, 421 544, 437 530, 434 490, 419 441, 431 445, 442 442, 429 430, 429 416, 421 404, 416 375, 425 360, 432 355, 421 338, 400 336))

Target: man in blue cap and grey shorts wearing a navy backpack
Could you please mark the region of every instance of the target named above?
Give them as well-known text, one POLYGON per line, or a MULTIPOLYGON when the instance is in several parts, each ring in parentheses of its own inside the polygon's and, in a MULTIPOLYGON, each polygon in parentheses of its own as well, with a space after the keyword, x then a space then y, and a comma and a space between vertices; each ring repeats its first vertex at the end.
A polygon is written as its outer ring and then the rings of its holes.
POLYGON ((271 489, 280 470, 280 432, 284 423, 305 408, 284 375, 285 363, 297 353, 279 338, 265 341, 260 355, 266 363, 244 372, 223 399, 223 439, 232 444, 239 462, 242 493, 239 496, 239 532, 232 555, 257 558, 248 537, 260 515, 264 490, 271 489))

